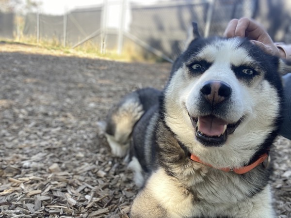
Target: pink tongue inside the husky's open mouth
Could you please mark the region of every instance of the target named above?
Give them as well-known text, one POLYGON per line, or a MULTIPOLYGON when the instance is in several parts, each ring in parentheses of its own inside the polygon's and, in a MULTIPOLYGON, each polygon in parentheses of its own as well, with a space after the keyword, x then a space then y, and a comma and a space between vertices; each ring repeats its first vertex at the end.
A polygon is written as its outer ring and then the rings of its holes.
POLYGON ((226 121, 214 117, 214 116, 206 116, 206 117, 198 117, 198 130, 208 136, 220 136, 225 132, 225 125, 227 125, 226 121))

